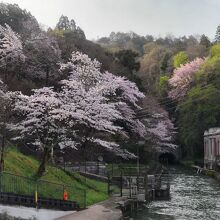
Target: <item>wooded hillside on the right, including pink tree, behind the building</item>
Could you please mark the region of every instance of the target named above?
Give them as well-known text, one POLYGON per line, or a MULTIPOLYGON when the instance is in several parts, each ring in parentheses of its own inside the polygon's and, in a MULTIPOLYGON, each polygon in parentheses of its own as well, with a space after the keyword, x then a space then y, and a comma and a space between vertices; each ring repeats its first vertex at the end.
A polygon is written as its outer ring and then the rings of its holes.
POLYGON ((135 53, 140 88, 168 111, 184 156, 202 157, 204 131, 220 126, 219 30, 213 42, 205 35, 155 38, 133 32, 112 32, 97 41, 116 57, 135 53))

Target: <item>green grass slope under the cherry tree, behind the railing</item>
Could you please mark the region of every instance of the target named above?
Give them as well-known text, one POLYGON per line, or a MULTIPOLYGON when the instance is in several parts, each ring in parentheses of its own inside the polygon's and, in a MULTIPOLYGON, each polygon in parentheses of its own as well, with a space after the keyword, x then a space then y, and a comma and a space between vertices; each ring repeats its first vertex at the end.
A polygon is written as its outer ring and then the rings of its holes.
POLYGON ((48 166, 46 174, 36 180, 35 174, 38 165, 39 162, 36 159, 25 156, 15 148, 8 149, 5 154, 6 173, 3 174, 2 189, 8 192, 33 195, 37 186, 39 196, 62 199, 65 188, 69 199, 77 201, 81 207, 84 205, 85 193, 86 205, 92 205, 108 198, 107 183, 85 178, 78 173, 70 175, 57 167, 48 166))

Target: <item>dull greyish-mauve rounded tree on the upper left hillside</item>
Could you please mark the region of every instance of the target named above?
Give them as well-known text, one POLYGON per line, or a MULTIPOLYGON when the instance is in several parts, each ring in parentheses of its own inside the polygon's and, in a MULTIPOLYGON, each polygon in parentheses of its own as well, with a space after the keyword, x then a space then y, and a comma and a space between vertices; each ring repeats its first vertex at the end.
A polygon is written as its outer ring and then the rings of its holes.
POLYGON ((24 43, 26 63, 24 71, 31 79, 42 80, 45 86, 60 77, 58 63, 61 51, 55 39, 45 32, 32 34, 24 43))

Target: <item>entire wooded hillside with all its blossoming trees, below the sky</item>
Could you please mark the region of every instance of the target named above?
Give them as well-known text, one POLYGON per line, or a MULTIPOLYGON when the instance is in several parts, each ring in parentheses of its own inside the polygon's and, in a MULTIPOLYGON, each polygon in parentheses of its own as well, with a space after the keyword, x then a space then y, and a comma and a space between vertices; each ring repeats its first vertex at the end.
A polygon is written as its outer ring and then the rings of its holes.
POLYGON ((220 126, 219 36, 92 42, 66 16, 45 30, 0 3, 1 166, 5 139, 41 156, 38 175, 49 160, 135 159, 137 149, 142 162, 180 148, 202 156, 204 131, 220 126))

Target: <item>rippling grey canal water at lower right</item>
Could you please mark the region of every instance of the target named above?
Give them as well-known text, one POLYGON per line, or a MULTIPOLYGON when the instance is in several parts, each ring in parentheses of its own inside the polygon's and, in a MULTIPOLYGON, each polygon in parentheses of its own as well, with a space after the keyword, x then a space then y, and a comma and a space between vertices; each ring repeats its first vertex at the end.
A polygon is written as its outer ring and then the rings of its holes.
POLYGON ((219 182, 180 168, 172 168, 171 173, 171 199, 151 202, 133 219, 220 220, 219 182))

